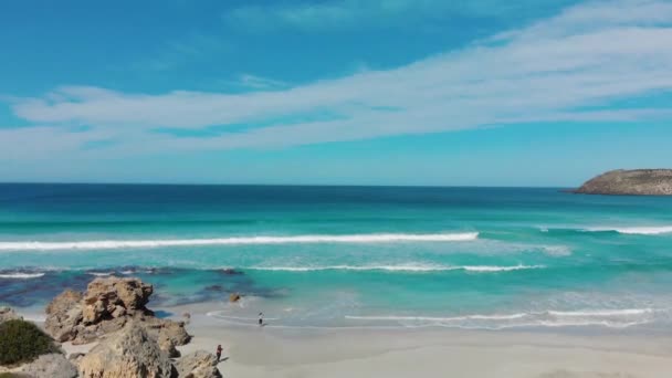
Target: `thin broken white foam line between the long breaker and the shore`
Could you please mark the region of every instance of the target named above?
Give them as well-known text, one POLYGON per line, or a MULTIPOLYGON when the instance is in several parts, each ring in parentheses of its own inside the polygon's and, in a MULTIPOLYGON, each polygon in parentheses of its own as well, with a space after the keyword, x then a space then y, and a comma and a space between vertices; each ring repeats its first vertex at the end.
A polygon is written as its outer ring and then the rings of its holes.
POLYGON ((529 269, 544 269, 544 265, 513 265, 513 266, 492 266, 492 265, 328 265, 328 266, 251 266, 243 270, 255 271, 279 271, 279 272, 314 272, 314 271, 389 271, 389 272, 445 272, 445 271, 468 271, 475 273, 487 272, 510 272, 529 269))

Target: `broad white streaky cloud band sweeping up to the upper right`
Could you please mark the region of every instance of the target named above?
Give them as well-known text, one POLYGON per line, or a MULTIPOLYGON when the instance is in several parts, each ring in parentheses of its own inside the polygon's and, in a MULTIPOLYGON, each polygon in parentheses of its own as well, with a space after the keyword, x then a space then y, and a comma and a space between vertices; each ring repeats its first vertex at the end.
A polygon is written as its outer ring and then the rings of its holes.
MULTIPOLYGON (((65 86, 41 98, 18 99, 13 111, 33 123, 94 126, 90 136, 80 133, 76 139, 56 132, 57 126, 43 130, 51 133, 43 143, 61 148, 87 137, 126 140, 105 150, 145 153, 284 147, 526 122, 669 119, 666 107, 619 109, 609 104, 671 91, 670 72, 672 3, 622 0, 573 7, 396 70, 243 94, 148 95, 65 86), (330 116, 302 117, 324 112, 330 116), (237 132, 225 133, 228 125, 237 132), (241 125, 250 127, 241 130, 241 125), (209 138, 153 132, 212 126, 221 133, 209 138)), ((21 144, 18 135, 12 137, 21 144)))

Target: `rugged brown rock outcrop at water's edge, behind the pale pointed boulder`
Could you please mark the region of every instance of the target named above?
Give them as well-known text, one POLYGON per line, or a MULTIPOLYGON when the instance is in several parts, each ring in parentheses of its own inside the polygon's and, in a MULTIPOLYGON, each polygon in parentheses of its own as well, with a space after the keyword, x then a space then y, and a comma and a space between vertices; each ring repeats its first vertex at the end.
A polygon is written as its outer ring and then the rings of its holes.
POLYGON ((57 342, 87 344, 133 321, 172 351, 176 345, 187 344, 190 336, 183 322, 157 318, 145 307, 153 291, 138 279, 96 279, 84 293, 69 290, 56 296, 46 307, 44 328, 57 342))

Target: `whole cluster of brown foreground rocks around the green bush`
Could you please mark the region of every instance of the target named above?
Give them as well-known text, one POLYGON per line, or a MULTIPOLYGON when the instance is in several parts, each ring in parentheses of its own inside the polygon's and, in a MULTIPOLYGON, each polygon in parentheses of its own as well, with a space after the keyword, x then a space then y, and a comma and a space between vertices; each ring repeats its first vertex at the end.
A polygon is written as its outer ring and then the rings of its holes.
MULTIPOLYGON (((221 377, 210 353, 199 350, 180 357, 176 346, 189 343, 191 336, 185 322, 158 318, 146 307, 153 292, 150 284, 138 279, 114 276, 92 281, 83 293, 66 290, 46 306, 44 332, 56 344, 95 346, 70 358, 59 349, 18 366, 0 366, 0 374, 36 378, 221 377)), ((3 322, 24 321, 11 308, 0 307, 3 322)))

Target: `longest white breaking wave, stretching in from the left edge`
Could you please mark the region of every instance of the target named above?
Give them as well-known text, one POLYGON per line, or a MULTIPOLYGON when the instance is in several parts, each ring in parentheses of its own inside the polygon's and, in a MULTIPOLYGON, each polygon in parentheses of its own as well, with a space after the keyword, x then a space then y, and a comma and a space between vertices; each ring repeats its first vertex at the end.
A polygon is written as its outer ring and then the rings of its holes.
POLYGON ((350 235, 232 237, 175 240, 97 240, 77 242, 0 242, 0 251, 113 250, 128 248, 240 245, 240 244, 316 244, 316 243, 396 243, 473 241, 477 232, 462 233, 371 233, 350 235))

